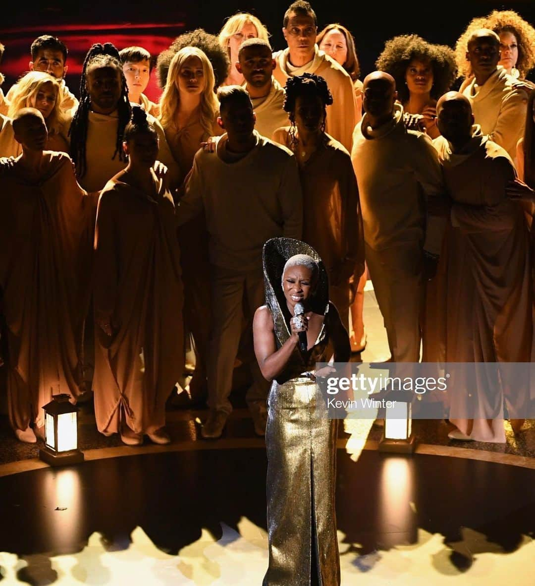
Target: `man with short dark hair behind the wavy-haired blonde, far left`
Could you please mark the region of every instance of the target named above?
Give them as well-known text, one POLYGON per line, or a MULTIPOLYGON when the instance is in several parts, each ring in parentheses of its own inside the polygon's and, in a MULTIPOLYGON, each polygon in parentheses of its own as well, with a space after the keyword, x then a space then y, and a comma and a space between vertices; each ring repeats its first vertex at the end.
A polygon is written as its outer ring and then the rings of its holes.
MULTIPOLYGON (((65 84, 67 73, 67 46, 63 41, 52 35, 41 35, 30 46, 32 60, 28 67, 30 71, 44 71, 55 77, 60 84, 60 106, 69 112, 78 106, 78 100, 74 97, 65 84)), ((11 101, 13 93, 17 91, 17 84, 11 87, 6 95, 6 100, 11 101)))

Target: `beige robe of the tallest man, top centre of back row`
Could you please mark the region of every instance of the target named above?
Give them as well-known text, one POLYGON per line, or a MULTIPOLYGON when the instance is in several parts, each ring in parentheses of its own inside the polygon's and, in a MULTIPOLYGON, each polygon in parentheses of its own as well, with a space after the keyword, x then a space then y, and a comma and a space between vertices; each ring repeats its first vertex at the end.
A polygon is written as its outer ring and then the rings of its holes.
POLYGON ((323 77, 332 94, 332 104, 327 106, 325 131, 351 152, 352 133, 357 121, 355 90, 351 77, 334 59, 320 51, 317 45, 313 60, 291 73, 287 65, 289 55, 289 49, 273 54, 277 64, 273 77, 282 87, 286 86, 286 80, 290 76, 315 73, 323 77))

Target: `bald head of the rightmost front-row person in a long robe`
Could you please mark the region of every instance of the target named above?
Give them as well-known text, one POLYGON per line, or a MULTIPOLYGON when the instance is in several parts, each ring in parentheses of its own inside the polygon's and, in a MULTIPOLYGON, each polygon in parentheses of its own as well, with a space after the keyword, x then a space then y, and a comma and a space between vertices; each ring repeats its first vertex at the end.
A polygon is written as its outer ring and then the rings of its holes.
POLYGON ((448 91, 437 102, 438 130, 451 142, 455 151, 472 137, 474 115, 468 98, 458 91, 448 91))

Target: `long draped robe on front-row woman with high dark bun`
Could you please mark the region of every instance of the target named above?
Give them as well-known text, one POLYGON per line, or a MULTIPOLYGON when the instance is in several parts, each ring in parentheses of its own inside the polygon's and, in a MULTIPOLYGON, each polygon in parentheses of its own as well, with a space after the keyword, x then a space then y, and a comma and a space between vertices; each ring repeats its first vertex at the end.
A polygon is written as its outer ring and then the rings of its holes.
POLYGON ((165 403, 183 373, 182 282, 170 193, 154 176, 148 195, 114 178, 95 228, 95 417, 104 434, 165 425, 165 403), (156 198, 156 199, 153 199, 156 198), (98 326, 110 318, 113 335, 98 326))

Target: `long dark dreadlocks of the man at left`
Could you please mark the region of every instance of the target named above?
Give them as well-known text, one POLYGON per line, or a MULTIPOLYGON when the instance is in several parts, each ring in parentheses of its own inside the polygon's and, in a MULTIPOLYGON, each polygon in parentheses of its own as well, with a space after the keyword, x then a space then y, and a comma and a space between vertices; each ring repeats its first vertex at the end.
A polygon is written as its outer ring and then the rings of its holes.
POLYGON ((112 159, 119 154, 119 159, 125 161, 125 155, 122 152, 122 139, 126 124, 130 120, 131 107, 128 101, 128 86, 122 72, 121 57, 112 43, 95 43, 87 52, 82 69, 82 78, 80 80, 80 105, 74 114, 73 122, 69 130, 71 137, 71 158, 76 165, 78 177, 83 177, 87 171, 87 162, 85 159, 85 143, 87 142, 87 127, 91 105, 91 97, 85 86, 87 70, 92 65, 98 67, 116 67, 121 72, 121 97, 117 104, 119 114, 119 124, 117 127, 117 138, 115 142, 115 152, 112 159))

